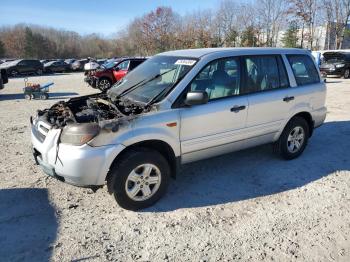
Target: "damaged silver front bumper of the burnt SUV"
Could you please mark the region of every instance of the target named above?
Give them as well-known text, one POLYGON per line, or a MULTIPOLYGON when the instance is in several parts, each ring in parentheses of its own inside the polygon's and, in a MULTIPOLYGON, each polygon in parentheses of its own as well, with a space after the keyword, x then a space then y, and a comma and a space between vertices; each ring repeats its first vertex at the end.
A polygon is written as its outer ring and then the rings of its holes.
POLYGON ((125 148, 123 145, 67 145, 57 143, 59 135, 59 129, 51 129, 42 142, 32 126, 35 161, 47 175, 75 186, 103 185, 113 160, 125 148))

